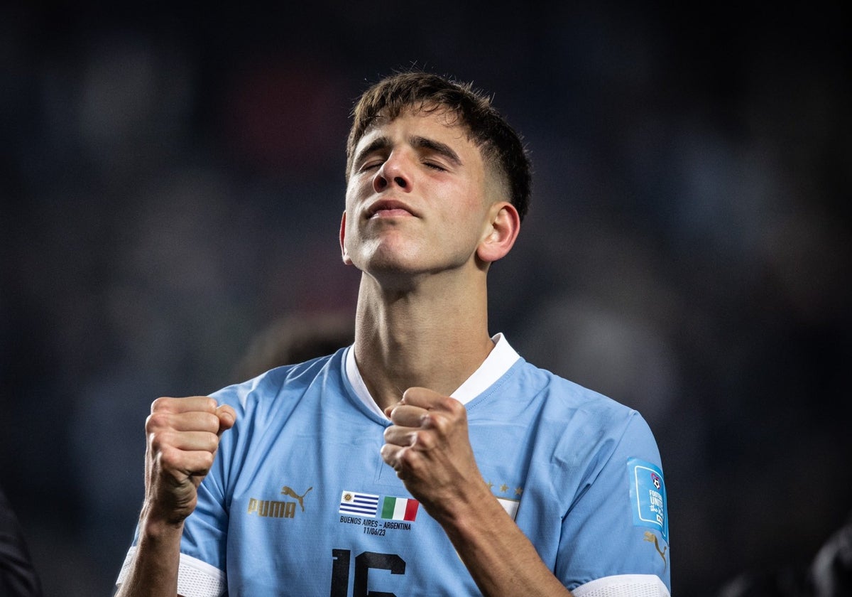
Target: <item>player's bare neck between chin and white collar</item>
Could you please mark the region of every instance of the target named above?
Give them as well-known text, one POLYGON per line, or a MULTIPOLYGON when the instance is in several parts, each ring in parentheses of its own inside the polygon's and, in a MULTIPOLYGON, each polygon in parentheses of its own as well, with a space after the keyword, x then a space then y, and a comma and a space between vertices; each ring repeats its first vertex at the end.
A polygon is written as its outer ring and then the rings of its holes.
POLYGON ((361 276, 355 360, 381 409, 399 402, 410 387, 449 396, 492 348, 484 275, 473 287, 428 276, 405 289, 361 276))

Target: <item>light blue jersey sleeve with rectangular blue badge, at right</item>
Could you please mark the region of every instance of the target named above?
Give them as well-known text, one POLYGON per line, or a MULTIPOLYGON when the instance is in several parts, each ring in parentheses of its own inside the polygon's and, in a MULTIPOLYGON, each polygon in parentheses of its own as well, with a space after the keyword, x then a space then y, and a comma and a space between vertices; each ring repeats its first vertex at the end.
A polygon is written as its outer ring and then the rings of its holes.
POLYGON ((562 519, 556 576, 569 579, 578 597, 668 595, 668 512, 653 434, 632 411, 614 447, 607 445, 562 519))

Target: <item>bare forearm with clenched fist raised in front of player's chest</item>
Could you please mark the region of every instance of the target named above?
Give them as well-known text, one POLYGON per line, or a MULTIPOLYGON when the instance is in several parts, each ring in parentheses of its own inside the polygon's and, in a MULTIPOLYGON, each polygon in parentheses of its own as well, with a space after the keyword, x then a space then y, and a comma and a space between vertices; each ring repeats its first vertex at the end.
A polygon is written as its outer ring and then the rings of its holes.
POLYGON ((571 595, 488 489, 452 397, 410 388, 387 409, 383 460, 444 528, 486 597, 571 595))

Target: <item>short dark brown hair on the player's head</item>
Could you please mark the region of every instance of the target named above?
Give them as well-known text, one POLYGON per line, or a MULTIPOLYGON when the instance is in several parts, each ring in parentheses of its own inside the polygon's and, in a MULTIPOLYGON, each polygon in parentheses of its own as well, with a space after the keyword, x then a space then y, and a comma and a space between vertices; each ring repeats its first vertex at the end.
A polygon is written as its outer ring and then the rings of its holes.
POLYGON ((491 98, 472 84, 429 72, 399 72, 373 84, 352 111, 352 129, 346 144, 346 176, 352 168, 355 146, 379 117, 395 119, 407 109, 446 110, 468 129, 482 159, 495 167, 509 191, 509 201, 521 220, 527 215, 532 186, 531 165, 521 136, 492 106, 491 98))

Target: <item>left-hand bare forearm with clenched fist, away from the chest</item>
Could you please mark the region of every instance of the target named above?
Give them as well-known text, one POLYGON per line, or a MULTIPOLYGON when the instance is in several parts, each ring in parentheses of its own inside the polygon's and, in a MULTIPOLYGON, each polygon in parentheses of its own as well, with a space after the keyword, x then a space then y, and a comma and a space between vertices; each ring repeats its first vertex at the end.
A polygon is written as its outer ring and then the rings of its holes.
POLYGON ((130 573, 117 597, 174 597, 183 521, 193 513, 222 432, 236 413, 213 398, 158 398, 145 431, 145 502, 130 573))

